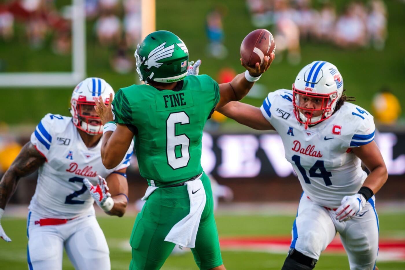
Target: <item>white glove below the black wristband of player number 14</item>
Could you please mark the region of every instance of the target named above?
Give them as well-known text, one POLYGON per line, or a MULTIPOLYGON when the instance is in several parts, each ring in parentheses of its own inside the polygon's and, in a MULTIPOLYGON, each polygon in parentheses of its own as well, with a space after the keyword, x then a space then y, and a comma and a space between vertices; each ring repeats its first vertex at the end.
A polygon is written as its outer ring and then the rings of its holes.
POLYGON ((366 202, 366 198, 360 193, 356 193, 352 196, 344 196, 341 206, 336 210, 336 219, 339 220, 339 222, 351 219, 360 213, 364 205, 366 205, 366 202))

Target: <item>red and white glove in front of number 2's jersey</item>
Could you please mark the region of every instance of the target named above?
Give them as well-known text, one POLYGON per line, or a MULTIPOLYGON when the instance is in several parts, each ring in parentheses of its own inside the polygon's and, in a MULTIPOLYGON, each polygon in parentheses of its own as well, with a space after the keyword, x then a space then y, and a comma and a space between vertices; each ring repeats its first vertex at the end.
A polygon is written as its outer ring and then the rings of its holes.
POLYGON ((89 179, 83 179, 83 184, 86 185, 90 194, 96 201, 96 204, 100 206, 104 212, 108 212, 114 206, 114 200, 111 198, 111 194, 108 192, 107 182, 100 175, 98 176, 98 184, 96 186, 90 183, 89 179))

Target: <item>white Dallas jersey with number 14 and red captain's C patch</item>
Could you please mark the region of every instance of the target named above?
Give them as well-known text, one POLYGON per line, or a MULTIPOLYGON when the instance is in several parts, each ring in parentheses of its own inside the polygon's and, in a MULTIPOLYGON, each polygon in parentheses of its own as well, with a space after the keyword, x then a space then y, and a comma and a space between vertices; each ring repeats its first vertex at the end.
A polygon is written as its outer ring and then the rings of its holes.
POLYGON ((286 159, 313 202, 337 208, 362 186, 367 173, 350 150, 374 140, 373 116, 345 102, 330 118, 305 130, 294 115, 292 91, 270 93, 260 107, 283 140, 286 159))

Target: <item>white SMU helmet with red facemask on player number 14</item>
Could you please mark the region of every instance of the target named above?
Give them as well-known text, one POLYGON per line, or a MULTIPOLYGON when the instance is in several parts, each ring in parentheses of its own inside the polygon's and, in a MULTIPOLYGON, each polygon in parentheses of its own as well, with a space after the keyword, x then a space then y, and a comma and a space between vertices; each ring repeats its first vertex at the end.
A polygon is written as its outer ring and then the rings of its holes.
POLYGON ((305 124, 307 129, 308 125, 324 121, 333 114, 343 94, 343 78, 335 65, 325 61, 314 61, 298 73, 292 91, 295 117, 298 122, 305 124), (303 108, 299 104, 298 95, 322 98, 321 108, 303 108), (300 108, 311 113, 304 115, 300 108), (312 117, 314 111, 323 112, 317 117, 312 117))

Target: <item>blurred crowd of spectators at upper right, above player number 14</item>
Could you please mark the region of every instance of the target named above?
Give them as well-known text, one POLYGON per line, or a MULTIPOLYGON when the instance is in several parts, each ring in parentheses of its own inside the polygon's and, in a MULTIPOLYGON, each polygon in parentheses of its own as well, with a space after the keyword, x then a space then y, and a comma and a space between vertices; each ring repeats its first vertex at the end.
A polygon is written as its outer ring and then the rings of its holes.
MULTIPOLYGON (((322 0, 312 7, 311 0, 246 0, 252 24, 274 26, 277 51, 288 51, 290 64, 299 64, 300 40, 331 43, 344 49, 374 47, 384 49, 387 38, 387 9, 382 0, 350 1, 337 11, 333 1, 322 0)), ((277 60, 282 57, 277 55, 277 60)))

